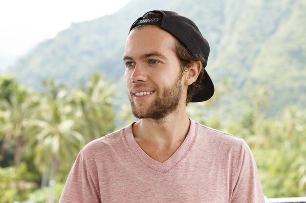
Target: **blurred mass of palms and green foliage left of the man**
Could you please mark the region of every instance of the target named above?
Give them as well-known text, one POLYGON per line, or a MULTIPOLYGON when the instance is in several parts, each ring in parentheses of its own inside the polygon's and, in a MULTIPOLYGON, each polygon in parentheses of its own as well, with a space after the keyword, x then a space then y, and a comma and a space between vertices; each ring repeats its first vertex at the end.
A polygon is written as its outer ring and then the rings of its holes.
POLYGON ((115 129, 111 86, 103 75, 93 74, 72 91, 55 80, 44 81, 43 92, 17 83, 6 91, 9 100, 0 99, 0 163, 12 165, 13 156, 16 166, 1 168, 1 201, 25 201, 30 191, 24 185, 37 183, 41 189, 33 189, 30 202, 58 201, 80 149, 115 129))

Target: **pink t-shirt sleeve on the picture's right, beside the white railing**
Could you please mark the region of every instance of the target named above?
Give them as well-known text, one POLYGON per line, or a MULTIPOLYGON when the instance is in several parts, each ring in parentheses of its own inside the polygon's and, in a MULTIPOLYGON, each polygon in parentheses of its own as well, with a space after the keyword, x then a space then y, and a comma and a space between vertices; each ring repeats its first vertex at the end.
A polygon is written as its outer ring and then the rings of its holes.
POLYGON ((230 203, 264 203, 257 166, 248 145, 242 141, 240 158, 235 172, 230 203))

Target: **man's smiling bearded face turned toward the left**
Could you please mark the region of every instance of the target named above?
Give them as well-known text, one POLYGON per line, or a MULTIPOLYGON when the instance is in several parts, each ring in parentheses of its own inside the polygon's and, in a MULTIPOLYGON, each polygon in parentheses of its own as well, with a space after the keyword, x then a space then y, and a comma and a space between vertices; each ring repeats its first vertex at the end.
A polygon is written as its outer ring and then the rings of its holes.
POLYGON ((137 118, 161 119, 182 99, 182 73, 175 38, 156 26, 131 31, 124 62, 132 112, 137 118))

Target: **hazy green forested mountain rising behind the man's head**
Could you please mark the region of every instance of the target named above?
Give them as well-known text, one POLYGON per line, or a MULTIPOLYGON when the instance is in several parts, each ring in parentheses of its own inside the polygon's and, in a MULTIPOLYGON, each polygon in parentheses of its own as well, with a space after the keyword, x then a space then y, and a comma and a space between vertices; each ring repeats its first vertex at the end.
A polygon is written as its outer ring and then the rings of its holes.
POLYGON ((40 89, 43 79, 56 78, 73 87, 93 72, 103 72, 124 95, 125 39, 134 20, 150 10, 173 10, 191 18, 207 38, 207 71, 216 90, 223 78, 232 89, 218 111, 239 113, 250 92, 262 96, 261 87, 270 92, 270 115, 287 106, 305 109, 305 0, 132 0, 113 15, 72 24, 40 43, 10 74, 40 89))

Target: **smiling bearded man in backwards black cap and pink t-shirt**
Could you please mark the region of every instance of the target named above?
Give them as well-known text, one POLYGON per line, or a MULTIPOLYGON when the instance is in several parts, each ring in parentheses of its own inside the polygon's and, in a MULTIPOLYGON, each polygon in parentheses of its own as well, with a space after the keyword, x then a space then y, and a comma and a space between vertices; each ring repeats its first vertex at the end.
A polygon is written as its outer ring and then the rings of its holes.
POLYGON ((188 102, 208 100, 209 45, 188 18, 151 11, 138 18, 123 60, 138 122, 89 143, 61 203, 264 203, 245 142, 198 124, 188 102))

